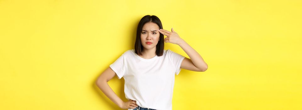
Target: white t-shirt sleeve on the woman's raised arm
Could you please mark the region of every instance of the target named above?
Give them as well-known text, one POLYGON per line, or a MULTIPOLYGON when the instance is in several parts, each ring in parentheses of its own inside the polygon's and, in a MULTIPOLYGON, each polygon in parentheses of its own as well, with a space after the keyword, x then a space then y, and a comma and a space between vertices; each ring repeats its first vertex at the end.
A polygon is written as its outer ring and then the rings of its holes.
POLYGON ((175 68, 175 74, 178 75, 181 70, 180 65, 185 57, 176 52, 171 51, 170 49, 168 49, 167 52, 175 68))

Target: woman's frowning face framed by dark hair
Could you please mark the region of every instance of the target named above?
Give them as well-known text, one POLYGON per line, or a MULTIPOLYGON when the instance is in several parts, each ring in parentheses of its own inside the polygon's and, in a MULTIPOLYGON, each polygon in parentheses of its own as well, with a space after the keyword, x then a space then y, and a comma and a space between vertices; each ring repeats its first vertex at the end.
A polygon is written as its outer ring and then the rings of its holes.
POLYGON ((144 49, 156 48, 160 33, 159 26, 153 22, 146 23, 140 33, 141 44, 144 49))

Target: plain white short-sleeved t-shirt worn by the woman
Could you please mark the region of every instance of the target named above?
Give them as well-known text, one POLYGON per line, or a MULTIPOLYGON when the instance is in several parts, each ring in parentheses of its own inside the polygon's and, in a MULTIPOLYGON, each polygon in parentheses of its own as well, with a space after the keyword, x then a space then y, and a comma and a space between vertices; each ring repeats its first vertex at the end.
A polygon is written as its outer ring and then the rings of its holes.
POLYGON ((128 100, 134 100, 144 108, 172 110, 174 78, 179 74, 184 58, 168 49, 162 56, 145 59, 132 49, 124 52, 109 67, 118 79, 124 77, 124 92, 128 100))

